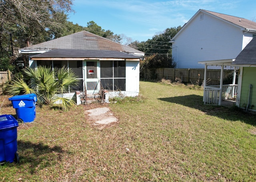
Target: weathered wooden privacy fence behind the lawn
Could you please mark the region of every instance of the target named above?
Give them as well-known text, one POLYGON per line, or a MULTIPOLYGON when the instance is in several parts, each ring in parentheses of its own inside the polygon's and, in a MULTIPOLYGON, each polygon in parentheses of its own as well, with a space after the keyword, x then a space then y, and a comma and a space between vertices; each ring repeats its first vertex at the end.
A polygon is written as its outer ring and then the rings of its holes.
MULTIPOLYGON (((223 78, 233 70, 224 70, 223 78)), ((204 69, 181 69, 181 68, 145 68, 140 73, 140 78, 166 80, 181 80, 183 83, 202 85, 204 81, 204 69)), ((207 70, 207 85, 220 84, 220 70, 207 70)))

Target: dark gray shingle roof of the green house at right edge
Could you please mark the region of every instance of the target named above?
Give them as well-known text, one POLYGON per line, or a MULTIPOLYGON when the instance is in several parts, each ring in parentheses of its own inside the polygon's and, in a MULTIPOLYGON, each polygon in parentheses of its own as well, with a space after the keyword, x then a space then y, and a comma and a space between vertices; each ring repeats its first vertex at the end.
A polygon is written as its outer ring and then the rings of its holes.
POLYGON ((256 65, 256 38, 244 47, 232 65, 256 65))

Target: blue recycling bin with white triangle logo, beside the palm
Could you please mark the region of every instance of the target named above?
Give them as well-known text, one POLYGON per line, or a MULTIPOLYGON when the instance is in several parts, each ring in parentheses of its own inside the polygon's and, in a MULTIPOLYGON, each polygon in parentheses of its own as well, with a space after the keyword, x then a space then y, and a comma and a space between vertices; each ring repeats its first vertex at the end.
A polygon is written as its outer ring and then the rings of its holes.
POLYGON ((24 123, 32 122, 36 118, 36 94, 25 94, 9 98, 16 110, 17 118, 24 123))

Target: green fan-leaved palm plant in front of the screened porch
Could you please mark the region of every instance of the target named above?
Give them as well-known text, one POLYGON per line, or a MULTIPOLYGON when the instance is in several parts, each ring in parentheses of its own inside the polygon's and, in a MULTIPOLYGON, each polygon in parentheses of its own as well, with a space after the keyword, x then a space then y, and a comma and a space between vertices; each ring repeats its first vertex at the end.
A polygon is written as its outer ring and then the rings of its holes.
POLYGON ((62 104, 63 110, 68 110, 74 105, 73 100, 64 98, 64 93, 70 87, 77 85, 77 76, 66 67, 60 69, 39 66, 38 68, 23 69, 23 79, 13 80, 6 86, 9 95, 35 93, 42 104, 62 104))

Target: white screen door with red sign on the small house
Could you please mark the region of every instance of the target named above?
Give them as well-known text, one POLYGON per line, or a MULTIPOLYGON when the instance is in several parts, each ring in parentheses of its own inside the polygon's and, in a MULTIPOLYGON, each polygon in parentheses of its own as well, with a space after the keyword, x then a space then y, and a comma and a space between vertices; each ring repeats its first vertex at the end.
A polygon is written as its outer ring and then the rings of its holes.
POLYGON ((99 92, 99 62, 97 60, 84 61, 84 78, 88 94, 97 94, 99 92))

